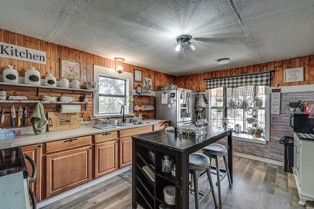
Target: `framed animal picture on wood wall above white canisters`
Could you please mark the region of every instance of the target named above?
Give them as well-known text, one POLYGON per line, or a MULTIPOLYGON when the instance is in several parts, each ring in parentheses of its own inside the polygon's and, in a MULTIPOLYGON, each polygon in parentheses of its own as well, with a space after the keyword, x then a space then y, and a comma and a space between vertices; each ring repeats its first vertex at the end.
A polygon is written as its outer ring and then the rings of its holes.
POLYGON ((80 80, 80 63, 60 58, 60 78, 80 80))

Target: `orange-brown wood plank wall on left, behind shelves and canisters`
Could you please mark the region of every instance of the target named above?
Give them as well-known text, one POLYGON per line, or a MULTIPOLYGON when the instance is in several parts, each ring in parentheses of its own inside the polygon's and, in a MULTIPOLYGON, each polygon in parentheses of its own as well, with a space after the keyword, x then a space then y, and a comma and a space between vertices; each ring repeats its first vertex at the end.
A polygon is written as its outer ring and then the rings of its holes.
MULTIPOLYGON (((37 50, 45 51, 47 53, 47 65, 0 57, 0 74, 2 74, 2 71, 4 68, 7 68, 8 65, 12 65, 13 69, 18 70, 19 76, 24 77, 25 71, 29 69, 30 66, 34 66, 36 70, 40 71, 42 79, 45 79, 45 77, 49 75, 49 73, 52 73, 52 76, 54 76, 57 80, 60 80, 60 58, 80 62, 81 82, 93 81, 94 65, 99 65, 99 66, 103 66, 107 68, 114 68, 114 60, 101 57, 98 55, 94 55, 88 52, 80 51, 74 48, 69 48, 67 46, 60 46, 53 43, 48 43, 43 40, 34 39, 32 37, 20 35, 17 33, 5 31, 1 29, 0 29, 0 42, 17 45, 17 46, 24 46, 24 47, 28 47, 32 49, 37 49, 37 50)), ((128 60, 126 60, 126 62, 128 62, 128 60)), ((157 91, 158 86, 167 85, 169 84, 169 82, 174 83, 174 84, 176 83, 175 76, 125 63, 125 71, 133 73, 134 69, 141 70, 142 77, 151 78, 153 80, 152 91, 157 91)), ((138 82, 133 81, 134 89, 137 86, 137 84, 138 82)), ((140 84, 142 87, 144 86, 143 82, 140 84)), ((0 85, 0 88, 7 89, 7 96, 15 95, 16 93, 19 93, 20 95, 27 94, 27 98, 30 100, 41 100, 42 95, 55 94, 56 96, 60 96, 60 95, 67 94, 67 93, 63 94, 58 91, 54 93, 50 90, 42 90, 40 92, 40 95, 36 96, 35 94, 33 94, 33 90, 31 88, 26 88, 26 92, 20 91, 19 87, 11 88, 10 86, 0 85), (8 89, 10 89, 10 91, 8 91, 8 89), (27 91, 30 91, 29 94, 27 93, 27 91)), ((75 96, 76 98, 79 98, 82 95, 82 93, 74 91, 72 92, 71 95, 75 96)), ((142 102, 144 102, 144 100, 145 102, 150 101, 149 97, 141 98, 142 102)), ((91 96, 89 96, 89 101, 92 101, 91 96)), ((10 105, 4 105, 4 106, 5 108, 10 107, 10 105)), ((23 107, 24 106, 25 105, 23 105, 23 107)), ((30 108, 33 109, 35 105, 33 104, 33 105, 26 105, 26 106, 30 106, 30 108)), ((52 108, 48 107, 47 110, 58 111, 58 106, 55 106, 52 108)), ((89 105, 88 110, 91 114, 93 114, 92 105, 89 105)), ((6 109, 6 112, 7 111, 9 111, 9 109, 6 109)), ((47 116, 46 109, 45 109, 45 112, 47 116)), ((151 119, 152 117, 155 118, 155 111, 148 111, 143 114, 144 114, 143 119, 151 119)), ((10 124, 10 118, 8 116, 5 117, 6 122, 0 124, 0 128, 8 128, 7 125, 10 124)), ((82 111, 80 113, 80 117, 83 117, 84 121, 90 120, 89 114, 87 111, 84 111, 83 106, 82 106, 82 111)), ((28 122, 28 124, 30 123, 28 122)))

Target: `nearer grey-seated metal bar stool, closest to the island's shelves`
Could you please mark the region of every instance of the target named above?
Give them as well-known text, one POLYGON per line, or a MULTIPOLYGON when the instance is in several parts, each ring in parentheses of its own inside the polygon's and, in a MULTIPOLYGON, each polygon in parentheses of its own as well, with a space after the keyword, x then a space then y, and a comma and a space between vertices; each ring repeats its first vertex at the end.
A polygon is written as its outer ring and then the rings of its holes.
POLYGON ((216 196, 215 196, 215 191, 213 189, 211 177, 210 177, 210 160, 209 158, 202 154, 202 153, 192 153, 189 155, 189 173, 193 175, 193 183, 194 183, 194 189, 189 187, 190 190, 194 191, 194 196, 195 196, 195 209, 199 209, 199 204, 201 204, 205 198, 209 195, 209 193, 212 193, 212 197, 215 202, 215 206, 217 206, 217 201, 216 201, 216 196), (198 189, 198 178, 200 173, 206 170, 207 177, 209 180, 209 185, 210 189, 207 191, 205 194, 202 192, 199 192, 198 189), (199 199, 199 194, 202 195, 203 197, 199 199))

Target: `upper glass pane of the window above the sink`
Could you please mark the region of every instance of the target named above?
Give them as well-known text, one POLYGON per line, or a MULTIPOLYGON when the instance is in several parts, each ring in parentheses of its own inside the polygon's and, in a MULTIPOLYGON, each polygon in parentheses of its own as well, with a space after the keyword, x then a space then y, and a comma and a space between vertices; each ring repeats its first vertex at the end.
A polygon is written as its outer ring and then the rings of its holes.
POLYGON ((126 81, 99 76, 99 94, 126 95, 126 81))

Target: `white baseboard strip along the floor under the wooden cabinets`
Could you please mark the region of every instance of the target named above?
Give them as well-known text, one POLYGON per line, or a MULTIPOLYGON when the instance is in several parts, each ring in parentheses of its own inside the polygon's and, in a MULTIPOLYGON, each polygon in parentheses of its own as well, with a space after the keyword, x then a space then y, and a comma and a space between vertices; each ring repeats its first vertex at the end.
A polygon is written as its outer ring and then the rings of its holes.
POLYGON ((117 176, 117 175, 119 175, 121 173, 124 173, 124 172, 130 170, 131 168, 132 168, 132 165, 129 165, 127 167, 124 167, 124 168, 121 168, 119 170, 116 170, 116 171, 114 171, 112 173, 109 173, 109 174, 107 174, 105 176, 102 176, 102 177, 100 177, 98 179, 95 179, 95 180, 93 180, 91 182, 88 182, 88 183, 83 184, 81 186, 78 186, 78 187, 75 187, 75 188, 70 189, 68 191, 65 191, 65 192, 63 192, 61 194, 58 194, 58 195, 55 195, 55 196, 53 196, 51 198, 43 200, 43 201, 37 203, 37 209, 43 208, 43 207, 45 207, 45 206, 47 206, 47 205, 49 205, 49 204, 51 204, 53 202, 56 202, 58 200, 61 200, 62 198, 68 197, 68 196, 70 196, 70 195, 72 195, 74 193, 77 193, 77 192, 85 189, 85 188, 88 188, 90 186, 94 186, 96 184, 99 184, 100 182, 103 182, 103 181, 105 181, 107 179, 110 179, 110 178, 112 178, 114 176, 117 176))

